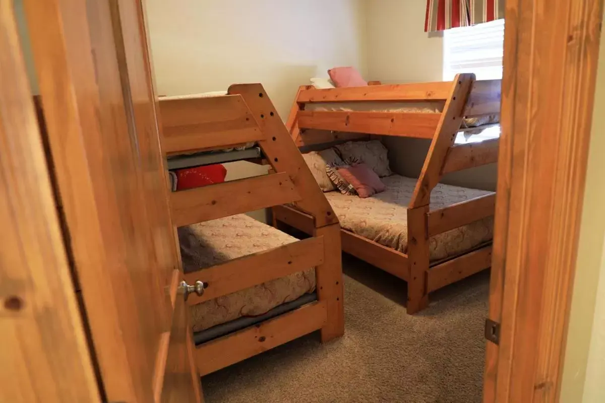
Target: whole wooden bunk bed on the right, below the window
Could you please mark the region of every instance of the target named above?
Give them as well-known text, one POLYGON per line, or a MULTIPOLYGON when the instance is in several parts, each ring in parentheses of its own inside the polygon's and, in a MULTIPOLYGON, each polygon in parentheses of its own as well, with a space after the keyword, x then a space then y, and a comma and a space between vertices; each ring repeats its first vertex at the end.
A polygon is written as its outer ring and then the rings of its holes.
MULTIPOLYGON (((407 281, 407 312, 414 314, 428 306, 430 292, 491 265, 495 193, 439 181, 497 161, 501 83, 459 74, 452 82, 369 84, 301 86, 286 126, 306 149, 374 135, 431 140, 419 178, 382 178, 386 192, 369 199, 325 193, 341 222, 342 250, 407 281), (389 211, 372 216, 379 208, 389 211), (381 226, 388 234, 368 230, 381 226), (447 243, 461 237, 465 242, 447 243)), ((312 231, 310 216, 295 206, 276 206, 272 213, 276 227, 312 231)))

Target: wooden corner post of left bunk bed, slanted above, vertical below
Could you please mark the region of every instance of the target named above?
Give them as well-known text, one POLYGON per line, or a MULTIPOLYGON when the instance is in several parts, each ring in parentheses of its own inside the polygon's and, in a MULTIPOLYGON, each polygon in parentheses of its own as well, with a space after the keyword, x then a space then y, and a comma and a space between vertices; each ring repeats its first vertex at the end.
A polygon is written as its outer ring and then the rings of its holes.
MULTIPOLYGON (((301 87, 301 89, 306 86, 301 87)), ((295 204, 313 217, 313 236, 324 238, 324 263, 316 266, 318 300, 327 306, 327 324, 321 329, 321 340, 329 341, 344 334, 342 308, 342 264, 340 225, 332 206, 307 168, 298 147, 277 114, 275 106, 260 84, 237 84, 229 94, 243 97, 263 132, 258 141, 275 172, 286 172, 295 184, 301 199, 295 204)), ((293 107, 293 109, 296 107, 293 107)), ((290 115, 292 118, 292 114, 290 115)), ((294 121, 289 121, 291 127, 294 121)))

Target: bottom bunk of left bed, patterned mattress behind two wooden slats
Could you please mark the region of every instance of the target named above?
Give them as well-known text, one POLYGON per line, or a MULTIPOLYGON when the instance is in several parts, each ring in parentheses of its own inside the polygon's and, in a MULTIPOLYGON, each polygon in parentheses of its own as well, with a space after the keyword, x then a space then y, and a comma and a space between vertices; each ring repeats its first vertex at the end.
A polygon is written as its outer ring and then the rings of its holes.
POLYGON ((341 303, 338 288, 316 289, 318 274, 342 276, 339 265, 323 264, 330 235, 298 240, 246 214, 177 231, 186 282, 208 287, 188 298, 200 375, 315 330, 322 341, 342 334, 343 318, 326 300, 341 303))

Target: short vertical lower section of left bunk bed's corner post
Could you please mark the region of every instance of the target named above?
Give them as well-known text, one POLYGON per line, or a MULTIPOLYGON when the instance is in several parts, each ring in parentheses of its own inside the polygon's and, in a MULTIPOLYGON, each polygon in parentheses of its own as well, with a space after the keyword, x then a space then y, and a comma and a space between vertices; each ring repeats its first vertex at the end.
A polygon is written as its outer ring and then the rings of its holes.
POLYGON ((330 341, 344 334, 344 288, 340 225, 317 228, 315 236, 324 239, 324 262, 315 268, 318 300, 325 303, 326 323, 321 329, 321 341, 330 341))

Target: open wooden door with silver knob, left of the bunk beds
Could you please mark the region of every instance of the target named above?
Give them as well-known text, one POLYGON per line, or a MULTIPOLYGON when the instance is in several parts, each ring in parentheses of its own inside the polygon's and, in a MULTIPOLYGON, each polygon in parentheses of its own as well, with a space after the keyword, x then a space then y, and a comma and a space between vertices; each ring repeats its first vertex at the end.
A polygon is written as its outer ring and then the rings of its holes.
POLYGON ((103 401, 199 402, 137 0, 25 0, 103 401))

